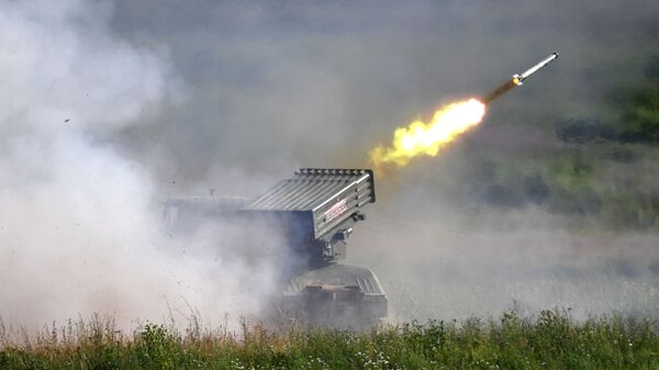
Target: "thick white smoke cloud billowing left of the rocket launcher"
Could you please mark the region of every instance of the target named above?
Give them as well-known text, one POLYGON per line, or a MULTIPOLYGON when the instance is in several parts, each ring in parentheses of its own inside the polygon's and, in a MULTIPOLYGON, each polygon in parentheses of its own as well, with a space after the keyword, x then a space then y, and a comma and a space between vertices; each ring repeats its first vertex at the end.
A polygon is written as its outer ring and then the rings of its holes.
POLYGON ((177 83, 166 60, 112 34, 111 14, 78 0, 0 3, 0 317, 254 314, 273 270, 165 251, 148 171, 102 139, 177 83), (243 294, 247 278, 263 290, 243 294))

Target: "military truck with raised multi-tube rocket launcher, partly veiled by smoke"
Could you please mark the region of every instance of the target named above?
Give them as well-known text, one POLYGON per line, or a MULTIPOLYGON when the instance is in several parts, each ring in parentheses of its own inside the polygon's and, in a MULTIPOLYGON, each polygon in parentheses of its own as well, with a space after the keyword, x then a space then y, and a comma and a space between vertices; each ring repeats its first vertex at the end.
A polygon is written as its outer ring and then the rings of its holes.
POLYGON ((339 260, 353 227, 366 218, 364 209, 375 201, 370 169, 302 168, 256 198, 168 200, 165 221, 172 234, 209 222, 231 224, 244 231, 236 247, 255 244, 257 250, 264 240, 254 235, 283 236, 281 253, 290 256, 290 266, 281 266, 277 310, 311 325, 368 328, 387 316, 387 295, 371 270, 339 260))

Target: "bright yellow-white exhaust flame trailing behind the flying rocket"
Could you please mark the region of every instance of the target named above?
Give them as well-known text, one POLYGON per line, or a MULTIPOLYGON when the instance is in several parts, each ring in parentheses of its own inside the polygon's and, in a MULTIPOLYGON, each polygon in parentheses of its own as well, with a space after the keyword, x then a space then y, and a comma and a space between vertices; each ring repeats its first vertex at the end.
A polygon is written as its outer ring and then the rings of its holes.
POLYGON ((434 157, 444 146, 481 122, 485 104, 477 99, 459 101, 437 110, 431 122, 421 120, 406 127, 399 127, 393 134, 391 146, 378 146, 369 153, 376 168, 386 164, 399 167, 420 155, 434 157))

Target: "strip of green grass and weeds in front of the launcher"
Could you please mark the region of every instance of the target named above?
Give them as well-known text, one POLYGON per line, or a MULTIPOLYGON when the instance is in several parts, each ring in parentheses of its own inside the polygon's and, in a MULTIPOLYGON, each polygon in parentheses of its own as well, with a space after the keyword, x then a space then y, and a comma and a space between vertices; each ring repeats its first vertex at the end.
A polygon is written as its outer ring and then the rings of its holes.
POLYGON ((69 323, 32 339, 1 332, 0 369, 659 369, 659 322, 521 318, 410 323, 369 333, 290 327, 239 333, 111 321, 69 323))

